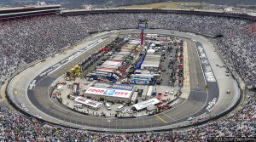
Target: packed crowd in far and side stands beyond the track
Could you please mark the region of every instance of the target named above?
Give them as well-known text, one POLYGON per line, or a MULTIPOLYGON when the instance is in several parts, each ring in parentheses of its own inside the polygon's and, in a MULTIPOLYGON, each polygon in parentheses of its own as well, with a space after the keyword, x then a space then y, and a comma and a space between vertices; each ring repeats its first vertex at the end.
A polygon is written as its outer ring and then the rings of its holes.
POLYGON ((20 65, 60 52, 78 43, 93 31, 137 28, 137 21, 148 20, 149 28, 190 31, 207 36, 223 35, 216 40, 218 49, 230 66, 244 79, 247 87, 256 84, 255 45, 244 32, 252 20, 198 14, 86 14, 77 16, 45 15, 26 20, 0 23, 0 81, 5 81, 20 65))

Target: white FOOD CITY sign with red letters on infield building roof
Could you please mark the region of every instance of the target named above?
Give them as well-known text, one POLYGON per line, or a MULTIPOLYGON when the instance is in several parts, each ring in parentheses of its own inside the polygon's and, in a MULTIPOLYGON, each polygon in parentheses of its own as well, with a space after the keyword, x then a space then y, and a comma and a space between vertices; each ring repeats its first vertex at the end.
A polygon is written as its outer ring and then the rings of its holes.
POLYGON ((97 94, 97 95, 113 96, 113 97, 119 97, 119 98, 130 98, 131 91, 113 89, 113 88, 90 87, 85 91, 85 94, 97 94))

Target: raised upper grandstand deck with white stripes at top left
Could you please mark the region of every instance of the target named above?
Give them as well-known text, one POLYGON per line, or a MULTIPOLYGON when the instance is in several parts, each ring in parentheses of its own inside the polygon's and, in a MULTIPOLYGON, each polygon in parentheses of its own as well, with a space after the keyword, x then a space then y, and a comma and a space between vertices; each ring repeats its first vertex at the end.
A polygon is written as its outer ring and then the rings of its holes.
POLYGON ((59 13, 61 5, 27 6, 0 9, 0 20, 12 19, 35 14, 59 13))

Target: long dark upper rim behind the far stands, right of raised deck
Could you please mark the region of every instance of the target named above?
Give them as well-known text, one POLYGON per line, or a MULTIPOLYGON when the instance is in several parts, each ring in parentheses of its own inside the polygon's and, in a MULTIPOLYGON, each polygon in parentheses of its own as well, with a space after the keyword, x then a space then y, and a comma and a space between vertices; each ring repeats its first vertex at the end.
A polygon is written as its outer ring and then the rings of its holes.
POLYGON ((255 16, 246 13, 226 13, 224 11, 213 10, 189 10, 189 9, 93 9, 93 10, 63 10, 61 14, 77 15, 77 14, 112 14, 112 13, 171 13, 171 14, 201 14, 225 16, 231 18, 241 18, 255 20, 255 16))

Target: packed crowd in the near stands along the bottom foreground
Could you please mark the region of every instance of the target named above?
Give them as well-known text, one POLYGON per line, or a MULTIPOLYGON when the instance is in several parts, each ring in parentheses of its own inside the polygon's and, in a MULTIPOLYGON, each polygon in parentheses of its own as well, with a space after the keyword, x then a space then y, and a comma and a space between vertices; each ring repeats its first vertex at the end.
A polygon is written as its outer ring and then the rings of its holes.
MULTIPOLYGON (((0 140, 22 141, 206 141, 215 137, 255 138, 256 93, 229 116, 201 126, 154 133, 96 133, 42 124, 32 117, 0 106, 0 140)), ((254 139, 255 140, 255 139, 254 139)), ((252 141, 252 140, 251 140, 252 141)))

